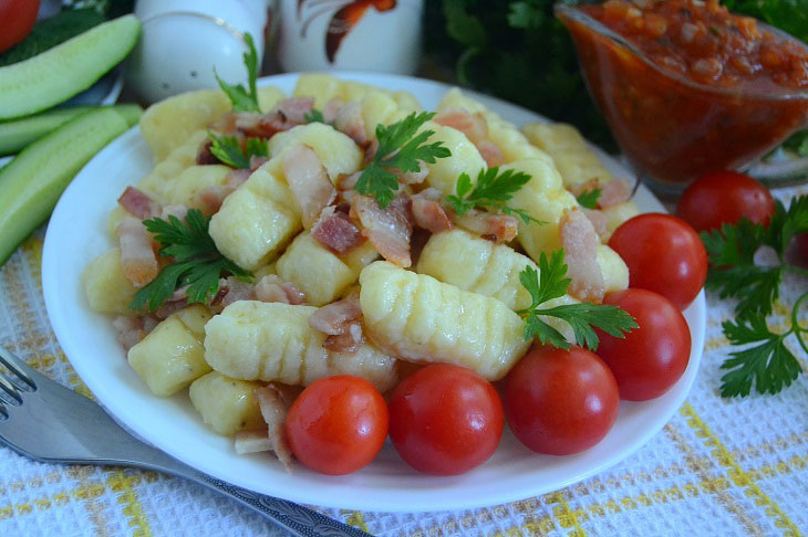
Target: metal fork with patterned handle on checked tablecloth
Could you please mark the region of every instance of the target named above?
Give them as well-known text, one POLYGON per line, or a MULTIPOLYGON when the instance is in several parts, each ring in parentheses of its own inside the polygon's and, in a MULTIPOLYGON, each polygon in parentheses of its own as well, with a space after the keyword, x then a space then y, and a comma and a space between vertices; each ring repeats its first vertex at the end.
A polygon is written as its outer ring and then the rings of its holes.
POLYGON ((124 431, 90 399, 52 381, 0 346, 0 442, 46 463, 134 466, 185 477, 266 516, 293 535, 369 536, 286 499, 203 474, 124 431))

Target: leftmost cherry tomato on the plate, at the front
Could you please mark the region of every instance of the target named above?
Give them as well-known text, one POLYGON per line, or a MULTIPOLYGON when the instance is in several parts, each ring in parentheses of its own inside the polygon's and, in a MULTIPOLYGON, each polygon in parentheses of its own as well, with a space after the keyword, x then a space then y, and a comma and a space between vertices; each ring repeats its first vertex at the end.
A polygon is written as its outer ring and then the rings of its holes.
POLYGON ((387 436, 387 422, 379 390, 363 378, 342 375, 305 388, 289 409, 286 430, 300 462, 343 475, 373 461, 387 436))

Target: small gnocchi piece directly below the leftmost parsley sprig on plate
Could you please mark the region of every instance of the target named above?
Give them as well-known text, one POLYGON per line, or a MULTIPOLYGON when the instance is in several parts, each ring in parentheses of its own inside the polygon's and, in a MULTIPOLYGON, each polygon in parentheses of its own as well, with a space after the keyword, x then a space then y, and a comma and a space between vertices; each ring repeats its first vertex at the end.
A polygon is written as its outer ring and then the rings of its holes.
POLYGON ((173 396, 210 372, 204 347, 209 319, 207 308, 195 304, 160 322, 130 349, 130 366, 155 396, 173 396))

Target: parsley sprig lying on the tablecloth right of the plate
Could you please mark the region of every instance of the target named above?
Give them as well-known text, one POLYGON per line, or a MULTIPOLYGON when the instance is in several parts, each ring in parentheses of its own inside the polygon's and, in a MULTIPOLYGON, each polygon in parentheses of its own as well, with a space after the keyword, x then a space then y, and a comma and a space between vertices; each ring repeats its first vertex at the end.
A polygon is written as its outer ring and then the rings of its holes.
POLYGON ((785 341, 794 335, 808 352, 802 339, 808 329, 798 322, 800 306, 808 299, 808 293, 794 305, 788 330, 781 334, 771 331, 766 316, 779 297, 780 283, 787 272, 808 275, 808 271, 785 260, 791 240, 805 232, 808 232, 808 196, 795 198, 788 209, 776 201, 768 228, 743 219, 737 224, 722 225, 721 231, 701 233, 711 264, 707 288, 718 292, 722 298, 738 299, 736 318, 722 324, 724 335, 732 345, 748 345, 731 352, 731 358, 721 366, 729 370, 721 379, 723 397, 748 396, 753 386, 758 393, 777 393, 790 386, 801 372, 799 361, 785 341), (779 264, 755 264, 755 253, 765 246, 776 252, 779 264))

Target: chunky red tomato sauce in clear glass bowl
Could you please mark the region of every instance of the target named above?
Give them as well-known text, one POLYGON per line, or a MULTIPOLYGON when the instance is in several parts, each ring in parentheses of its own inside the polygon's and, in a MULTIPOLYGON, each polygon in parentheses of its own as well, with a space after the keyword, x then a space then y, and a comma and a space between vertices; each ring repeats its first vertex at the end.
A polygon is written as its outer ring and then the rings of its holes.
POLYGON ((559 4, 590 93, 655 181, 737 169, 808 123, 808 48, 717 0, 559 4))

